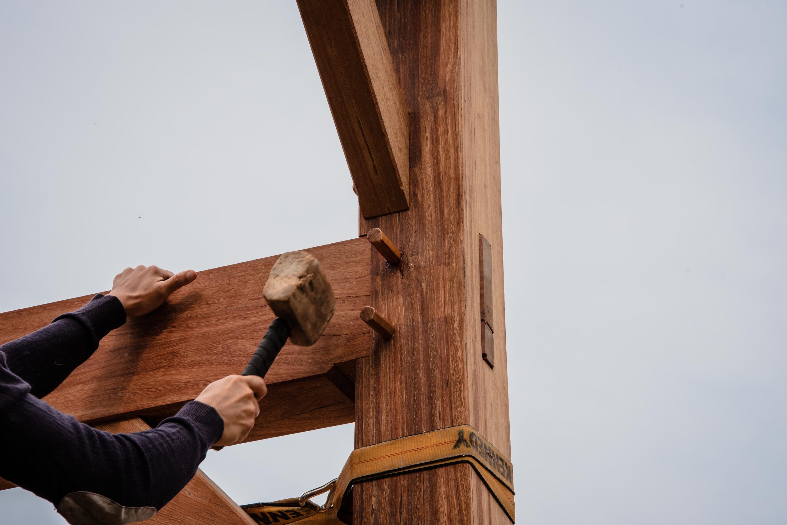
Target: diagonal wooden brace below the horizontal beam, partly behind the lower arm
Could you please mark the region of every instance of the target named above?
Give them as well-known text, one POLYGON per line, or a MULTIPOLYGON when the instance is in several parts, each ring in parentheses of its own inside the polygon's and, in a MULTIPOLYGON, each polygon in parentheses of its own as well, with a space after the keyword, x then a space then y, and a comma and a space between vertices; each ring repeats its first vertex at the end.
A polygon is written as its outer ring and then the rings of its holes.
MULTIPOLYGON (((96 428, 113 434, 130 434, 150 427, 139 417, 98 424, 96 428)), ((150 525, 256 525, 253 519, 231 497, 201 470, 172 498, 156 516, 147 520, 150 525)))

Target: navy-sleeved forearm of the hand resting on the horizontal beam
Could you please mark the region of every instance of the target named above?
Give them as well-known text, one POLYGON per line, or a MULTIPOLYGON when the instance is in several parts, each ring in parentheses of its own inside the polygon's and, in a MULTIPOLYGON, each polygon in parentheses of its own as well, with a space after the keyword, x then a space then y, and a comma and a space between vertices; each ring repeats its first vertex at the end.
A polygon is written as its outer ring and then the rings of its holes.
POLYGON ((0 346, 8 368, 42 398, 98 348, 98 343, 126 321, 116 297, 98 294, 84 307, 62 314, 50 325, 0 346))

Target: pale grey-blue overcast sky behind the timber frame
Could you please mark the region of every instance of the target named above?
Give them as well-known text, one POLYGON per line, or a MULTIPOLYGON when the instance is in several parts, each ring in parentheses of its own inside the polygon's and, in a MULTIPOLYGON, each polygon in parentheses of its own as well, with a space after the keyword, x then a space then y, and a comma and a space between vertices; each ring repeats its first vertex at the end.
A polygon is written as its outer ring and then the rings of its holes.
MULTIPOLYGON (((787 522, 787 3, 498 20, 518 523, 787 522)), ((0 177, 0 311, 357 234, 285 0, 0 1, 0 177)), ((352 447, 343 425, 203 469, 271 501, 352 447)), ((13 489, 0 523, 65 522, 13 489)))

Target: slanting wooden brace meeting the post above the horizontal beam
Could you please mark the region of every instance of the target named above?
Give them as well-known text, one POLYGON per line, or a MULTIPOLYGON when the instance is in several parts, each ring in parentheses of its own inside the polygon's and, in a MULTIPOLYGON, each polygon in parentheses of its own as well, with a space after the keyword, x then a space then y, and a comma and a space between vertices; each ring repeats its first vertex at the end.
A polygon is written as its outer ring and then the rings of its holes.
POLYGON ((297 0, 364 217, 409 207, 408 115, 374 0, 297 0))

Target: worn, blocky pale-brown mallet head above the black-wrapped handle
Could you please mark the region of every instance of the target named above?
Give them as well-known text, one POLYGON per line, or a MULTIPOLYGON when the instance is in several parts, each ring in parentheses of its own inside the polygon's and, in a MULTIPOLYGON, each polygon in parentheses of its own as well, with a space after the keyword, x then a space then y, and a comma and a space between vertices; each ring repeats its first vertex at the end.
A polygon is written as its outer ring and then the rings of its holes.
POLYGON ((306 251, 288 251, 279 257, 262 294, 273 313, 290 323, 290 341, 301 347, 320 339, 336 308, 323 265, 306 251))

